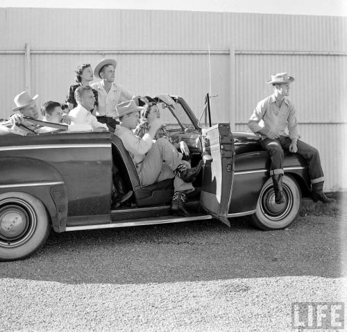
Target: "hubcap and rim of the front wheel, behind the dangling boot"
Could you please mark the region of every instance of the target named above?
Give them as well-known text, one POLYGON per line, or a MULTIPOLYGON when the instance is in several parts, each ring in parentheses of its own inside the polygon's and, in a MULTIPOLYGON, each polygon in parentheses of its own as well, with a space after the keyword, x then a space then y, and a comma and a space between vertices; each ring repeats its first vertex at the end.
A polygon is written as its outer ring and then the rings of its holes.
POLYGON ((276 204, 273 186, 269 185, 265 188, 260 206, 266 217, 273 221, 280 221, 288 215, 293 205, 293 196, 285 183, 283 183, 283 196, 285 197, 285 203, 276 204))

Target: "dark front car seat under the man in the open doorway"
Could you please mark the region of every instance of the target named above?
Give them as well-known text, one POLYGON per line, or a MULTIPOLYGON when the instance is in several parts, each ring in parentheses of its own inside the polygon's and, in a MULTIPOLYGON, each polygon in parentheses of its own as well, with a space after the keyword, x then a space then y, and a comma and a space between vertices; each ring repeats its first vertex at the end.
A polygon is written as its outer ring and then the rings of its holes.
POLYGON ((124 181, 133 188, 137 206, 168 204, 174 194, 174 179, 142 186, 130 153, 117 135, 111 135, 113 163, 119 168, 124 181), (128 177, 127 177, 128 175, 128 177))

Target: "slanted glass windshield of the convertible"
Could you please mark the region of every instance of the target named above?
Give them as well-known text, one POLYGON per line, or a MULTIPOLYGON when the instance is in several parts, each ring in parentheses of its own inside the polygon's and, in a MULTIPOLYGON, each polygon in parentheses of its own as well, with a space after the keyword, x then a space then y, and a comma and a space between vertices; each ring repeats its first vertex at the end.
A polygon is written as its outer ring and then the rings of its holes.
POLYGON ((158 103, 160 119, 169 129, 195 128, 192 119, 189 118, 186 110, 178 101, 167 94, 160 95, 159 99, 162 101, 158 103))

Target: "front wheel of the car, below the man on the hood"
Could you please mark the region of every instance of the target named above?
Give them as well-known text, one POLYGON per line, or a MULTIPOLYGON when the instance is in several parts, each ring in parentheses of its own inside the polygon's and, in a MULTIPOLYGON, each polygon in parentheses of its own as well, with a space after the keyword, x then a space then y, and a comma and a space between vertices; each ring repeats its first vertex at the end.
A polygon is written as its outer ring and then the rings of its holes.
POLYGON ((251 216, 253 224, 264 231, 285 229, 297 217, 301 204, 301 190, 290 176, 283 176, 285 203, 275 203, 272 179, 268 179, 260 191, 255 214, 251 216))

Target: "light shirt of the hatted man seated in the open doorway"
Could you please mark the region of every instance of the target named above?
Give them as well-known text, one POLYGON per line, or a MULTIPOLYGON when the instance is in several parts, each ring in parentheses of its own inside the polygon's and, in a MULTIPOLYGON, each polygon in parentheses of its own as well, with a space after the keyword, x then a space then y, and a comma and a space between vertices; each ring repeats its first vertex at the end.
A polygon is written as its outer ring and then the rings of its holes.
POLYGON ((130 129, 124 126, 117 126, 115 135, 121 139, 124 147, 130 153, 131 158, 133 158, 135 165, 144 160, 146 153, 152 147, 152 138, 149 133, 145 133, 142 138, 139 138, 139 136, 135 135, 130 129))

